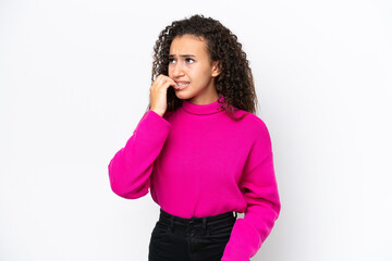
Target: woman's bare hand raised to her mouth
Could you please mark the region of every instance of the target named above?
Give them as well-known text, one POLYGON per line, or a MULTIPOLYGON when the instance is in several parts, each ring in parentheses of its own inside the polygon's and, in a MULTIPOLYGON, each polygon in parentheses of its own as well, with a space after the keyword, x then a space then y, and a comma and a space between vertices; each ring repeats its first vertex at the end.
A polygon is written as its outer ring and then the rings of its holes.
POLYGON ((163 116, 168 109, 167 94, 168 88, 177 88, 175 82, 163 74, 158 75, 150 87, 151 110, 163 116))

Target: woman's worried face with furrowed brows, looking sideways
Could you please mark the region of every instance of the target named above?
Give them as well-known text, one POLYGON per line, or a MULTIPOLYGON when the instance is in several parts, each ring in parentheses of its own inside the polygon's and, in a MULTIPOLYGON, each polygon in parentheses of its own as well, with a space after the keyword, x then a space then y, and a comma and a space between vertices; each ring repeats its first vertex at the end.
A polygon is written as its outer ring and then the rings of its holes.
POLYGON ((169 53, 169 77, 181 88, 174 88, 179 99, 195 104, 218 100, 215 86, 218 75, 218 62, 210 61, 204 39, 192 35, 173 39, 169 53))

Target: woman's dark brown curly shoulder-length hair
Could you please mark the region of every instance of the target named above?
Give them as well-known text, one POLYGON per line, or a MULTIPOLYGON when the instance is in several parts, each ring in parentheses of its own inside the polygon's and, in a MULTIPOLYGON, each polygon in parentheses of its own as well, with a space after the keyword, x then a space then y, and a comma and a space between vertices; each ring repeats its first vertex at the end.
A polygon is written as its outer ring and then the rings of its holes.
MULTIPOLYGON (((170 46, 175 37, 193 35, 205 40, 210 61, 219 61, 221 73, 216 77, 216 88, 219 95, 224 96, 226 114, 233 120, 234 108, 255 113, 257 96, 249 62, 237 37, 219 21, 204 15, 193 15, 189 18, 174 21, 167 26, 158 37, 154 47, 154 62, 151 82, 159 74, 168 75, 170 46)), ((173 88, 168 88, 167 111, 175 111, 182 100, 175 96, 173 88)), ((220 102, 220 101, 219 101, 220 102)), ((148 104, 147 110, 151 108, 148 104)))

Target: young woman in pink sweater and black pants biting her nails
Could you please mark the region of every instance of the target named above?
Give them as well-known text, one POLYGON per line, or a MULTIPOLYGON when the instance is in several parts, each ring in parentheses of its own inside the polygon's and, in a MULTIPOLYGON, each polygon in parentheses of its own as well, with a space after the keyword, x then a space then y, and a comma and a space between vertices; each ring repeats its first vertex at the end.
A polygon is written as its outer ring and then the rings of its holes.
POLYGON ((248 261, 281 204, 246 54, 203 15, 167 26, 154 50, 150 102, 109 164, 111 188, 160 206, 150 261, 248 261))

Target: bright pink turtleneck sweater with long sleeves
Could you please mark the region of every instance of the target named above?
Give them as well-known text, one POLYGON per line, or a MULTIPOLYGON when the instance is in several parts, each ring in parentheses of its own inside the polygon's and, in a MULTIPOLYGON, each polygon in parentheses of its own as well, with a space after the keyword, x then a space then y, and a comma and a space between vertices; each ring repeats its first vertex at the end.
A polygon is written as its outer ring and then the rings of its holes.
POLYGON ((183 100, 163 117, 149 110, 110 161, 110 184, 127 199, 150 189, 162 210, 181 217, 245 212, 234 224, 222 260, 248 261, 281 208, 271 140, 255 114, 234 121, 219 107, 218 101, 200 105, 183 100))

